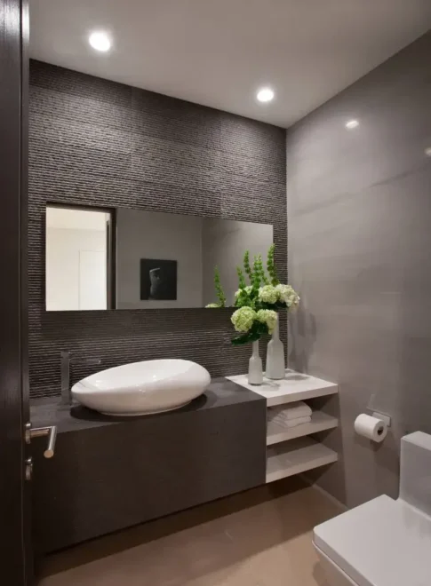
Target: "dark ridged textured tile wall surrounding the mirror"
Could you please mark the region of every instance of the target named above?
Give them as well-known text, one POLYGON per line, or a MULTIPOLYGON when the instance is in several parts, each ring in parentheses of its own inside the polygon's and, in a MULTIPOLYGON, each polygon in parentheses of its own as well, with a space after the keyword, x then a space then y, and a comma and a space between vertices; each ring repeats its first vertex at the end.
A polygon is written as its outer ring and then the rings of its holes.
MULTIPOLYGON (((267 222, 287 273, 285 131, 208 107, 30 63, 29 329, 32 397, 60 392, 60 350, 133 360, 196 360, 244 372, 228 310, 46 313, 47 201, 267 222)), ((283 336, 286 324, 283 320, 283 336)), ((262 348, 263 350, 263 348, 262 348)), ((94 367, 93 367, 94 368, 94 367)), ((73 380, 92 372, 75 367, 73 380)))

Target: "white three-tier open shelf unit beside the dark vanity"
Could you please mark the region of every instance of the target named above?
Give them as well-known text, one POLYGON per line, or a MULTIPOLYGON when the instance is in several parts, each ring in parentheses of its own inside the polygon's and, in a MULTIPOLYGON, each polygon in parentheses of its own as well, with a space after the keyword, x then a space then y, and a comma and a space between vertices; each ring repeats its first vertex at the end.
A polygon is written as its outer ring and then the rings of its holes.
MULTIPOLYGON (((283 380, 264 378, 263 384, 249 384, 247 375, 228 376, 229 380, 267 400, 267 407, 284 405, 297 400, 315 399, 336 394, 338 385, 315 376, 286 370, 283 380)), ((338 455, 329 447, 307 437, 330 430, 339 424, 336 417, 315 411, 309 424, 286 428, 282 424, 267 424, 267 483, 300 474, 319 466, 337 462, 338 455)))

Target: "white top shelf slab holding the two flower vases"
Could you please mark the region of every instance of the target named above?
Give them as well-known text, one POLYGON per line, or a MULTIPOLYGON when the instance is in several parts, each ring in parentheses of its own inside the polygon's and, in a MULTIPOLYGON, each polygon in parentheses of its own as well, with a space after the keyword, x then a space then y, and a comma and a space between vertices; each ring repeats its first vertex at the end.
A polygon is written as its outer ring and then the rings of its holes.
POLYGON ((249 384, 247 375, 227 376, 227 378, 265 397, 267 407, 275 407, 275 405, 283 405, 295 400, 315 399, 315 397, 333 395, 339 389, 337 384, 289 369, 286 370, 286 377, 283 380, 273 381, 264 378, 263 384, 259 385, 249 384))

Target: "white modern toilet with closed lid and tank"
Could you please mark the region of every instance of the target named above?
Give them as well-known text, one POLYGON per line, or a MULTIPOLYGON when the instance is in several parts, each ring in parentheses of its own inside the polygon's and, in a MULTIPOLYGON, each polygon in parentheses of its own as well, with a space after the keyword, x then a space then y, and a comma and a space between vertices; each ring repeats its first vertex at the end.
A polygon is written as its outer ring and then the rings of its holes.
POLYGON ((431 435, 401 440, 400 496, 315 527, 329 586, 431 586, 431 435))

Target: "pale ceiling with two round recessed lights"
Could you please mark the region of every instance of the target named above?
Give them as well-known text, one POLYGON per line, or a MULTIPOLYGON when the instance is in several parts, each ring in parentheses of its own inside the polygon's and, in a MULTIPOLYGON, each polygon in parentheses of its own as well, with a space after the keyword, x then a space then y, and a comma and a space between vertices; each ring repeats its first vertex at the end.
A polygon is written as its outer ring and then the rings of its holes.
POLYGON ((30 0, 33 58, 286 128, 430 27, 431 0, 30 0))

